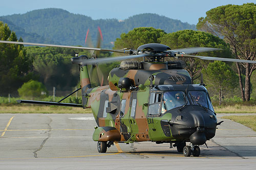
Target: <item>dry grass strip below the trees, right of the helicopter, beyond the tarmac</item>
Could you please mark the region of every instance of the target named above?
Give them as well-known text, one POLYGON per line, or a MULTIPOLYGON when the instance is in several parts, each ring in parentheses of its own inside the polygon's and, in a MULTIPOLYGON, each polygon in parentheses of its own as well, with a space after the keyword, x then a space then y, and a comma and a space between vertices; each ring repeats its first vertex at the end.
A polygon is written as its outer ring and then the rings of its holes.
POLYGON ((256 113, 256 106, 232 105, 215 106, 216 113, 256 113))

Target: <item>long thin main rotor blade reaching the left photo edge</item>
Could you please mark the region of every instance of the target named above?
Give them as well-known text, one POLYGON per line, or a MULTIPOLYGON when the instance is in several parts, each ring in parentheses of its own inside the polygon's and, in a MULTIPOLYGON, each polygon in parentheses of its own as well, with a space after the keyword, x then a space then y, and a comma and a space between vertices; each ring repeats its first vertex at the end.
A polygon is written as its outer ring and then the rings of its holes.
POLYGON ((3 41, 3 40, 0 40, 0 43, 36 45, 36 46, 54 46, 54 47, 63 47, 63 48, 75 48, 75 49, 82 49, 82 50, 95 50, 95 51, 128 53, 128 54, 130 53, 127 50, 126 51, 124 51, 124 50, 111 50, 111 49, 104 49, 104 48, 92 48, 92 47, 69 46, 69 45, 55 45, 55 44, 42 44, 42 43, 31 43, 31 42, 18 42, 18 41, 3 41))

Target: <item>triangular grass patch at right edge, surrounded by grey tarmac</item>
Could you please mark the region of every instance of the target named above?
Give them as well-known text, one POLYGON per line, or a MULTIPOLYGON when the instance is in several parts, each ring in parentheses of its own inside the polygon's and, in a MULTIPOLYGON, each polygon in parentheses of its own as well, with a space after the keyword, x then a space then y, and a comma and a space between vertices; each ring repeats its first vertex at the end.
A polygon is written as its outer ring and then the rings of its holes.
POLYGON ((253 131, 256 132, 256 116, 254 115, 222 116, 221 118, 233 120, 234 122, 237 122, 248 128, 251 128, 253 131))

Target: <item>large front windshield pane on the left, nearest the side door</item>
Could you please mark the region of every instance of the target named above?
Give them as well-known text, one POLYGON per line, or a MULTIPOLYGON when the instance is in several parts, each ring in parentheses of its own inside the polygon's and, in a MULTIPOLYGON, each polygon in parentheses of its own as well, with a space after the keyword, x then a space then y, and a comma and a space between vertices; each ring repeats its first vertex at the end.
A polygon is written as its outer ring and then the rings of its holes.
POLYGON ((183 91, 167 91, 163 93, 162 113, 176 107, 189 104, 183 91))

